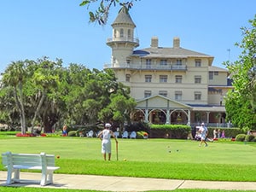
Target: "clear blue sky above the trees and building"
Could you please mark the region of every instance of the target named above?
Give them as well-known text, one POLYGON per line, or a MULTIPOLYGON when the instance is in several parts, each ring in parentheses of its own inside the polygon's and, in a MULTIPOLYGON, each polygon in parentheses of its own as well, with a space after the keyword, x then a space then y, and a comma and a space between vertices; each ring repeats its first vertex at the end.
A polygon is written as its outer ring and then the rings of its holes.
MULTIPOLYGON (((3 0, 0 2, 0 72, 11 61, 37 60, 49 56, 69 63, 102 70, 109 64, 111 24, 119 7, 111 9, 108 24, 89 23, 82 0, 3 0)), ((93 8, 93 6, 91 7, 93 8)), ((212 65, 236 61, 241 49, 241 26, 256 14, 255 0, 141 0, 130 11, 137 25, 137 49, 148 48, 151 38, 159 46, 172 47, 179 37, 181 47, 214 56, 212 65), (150 3, 149 3, 150 2, 150 3), (230 49, 230 51, 228 51, 230 49)))

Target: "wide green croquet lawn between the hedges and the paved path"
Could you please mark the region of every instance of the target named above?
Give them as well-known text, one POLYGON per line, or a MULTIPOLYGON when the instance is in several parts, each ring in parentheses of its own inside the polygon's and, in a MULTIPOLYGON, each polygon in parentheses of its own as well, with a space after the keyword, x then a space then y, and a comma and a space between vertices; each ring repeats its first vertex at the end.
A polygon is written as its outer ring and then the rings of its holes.
MULTIPOLYGON (((256 181, 256 143, 218 141, 208 147, 198 144, 190 140, 119 139, 119 161, 113 142, 113 158, 108 162, 102 158, 101 141, 97 138, 0 137, 0 152, 59 155, 56 165, 61 169, 56 173, 256 181)), ((4 170, 2 165, 0 170, 4 170)))

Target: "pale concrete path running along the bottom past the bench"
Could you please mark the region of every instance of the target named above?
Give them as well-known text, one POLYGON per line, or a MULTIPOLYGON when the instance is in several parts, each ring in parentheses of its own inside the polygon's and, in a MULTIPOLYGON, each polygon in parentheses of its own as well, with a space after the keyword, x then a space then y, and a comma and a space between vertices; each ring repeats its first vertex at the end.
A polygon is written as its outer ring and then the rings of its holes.
MULTIPOLYGON (((6 186, 7 172, 0 172, 0 186, 6 186)), ((9 186, 54 188, 54 189, 89 189, 105 191, 147 191, 173 189, 240 189, 255 190, 256 182, 214 182, 159 178, 107 177, 95 175, 54 174, 54 184, 44 187, 39 185, 41 174, 20 172, 22 179, 37 179, 36 183, 24 181, 9 186)))

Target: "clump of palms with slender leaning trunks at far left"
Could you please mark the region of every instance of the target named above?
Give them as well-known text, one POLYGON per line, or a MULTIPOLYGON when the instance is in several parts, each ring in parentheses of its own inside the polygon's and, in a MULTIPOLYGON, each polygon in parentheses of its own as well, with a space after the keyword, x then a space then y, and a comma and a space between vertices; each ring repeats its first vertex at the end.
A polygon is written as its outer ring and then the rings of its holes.
POLYGON ((22 134, 26 133, 28 124, 33 129, 46 96, 49 98, 50 93, 55 92, 52 89, 56 87, 57 77, 53 69, 59 65, 61 61, 49 61, 47 57, 43 57, 38 61, 12 62, 3 73, 1 99, 7 100, 6 96, 14 98, 16 108, 12 108, 20 115, 22 134))

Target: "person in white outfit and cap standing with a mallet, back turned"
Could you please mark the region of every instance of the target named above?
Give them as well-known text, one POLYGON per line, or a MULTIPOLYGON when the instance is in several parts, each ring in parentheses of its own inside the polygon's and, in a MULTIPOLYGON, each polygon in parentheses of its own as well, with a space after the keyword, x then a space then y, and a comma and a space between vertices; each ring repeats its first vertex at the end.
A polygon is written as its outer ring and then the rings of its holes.
POLYGON ((102 140, 102 154, 104 160, 111 160, 111 136, 114 138, 115 142, 118 143, 116 137, 114 137, 113 131, 110 130, 111 125, 109 123, 105 124, 105 129, 102 130, 98 137, 102 140))

